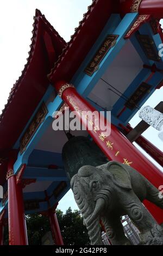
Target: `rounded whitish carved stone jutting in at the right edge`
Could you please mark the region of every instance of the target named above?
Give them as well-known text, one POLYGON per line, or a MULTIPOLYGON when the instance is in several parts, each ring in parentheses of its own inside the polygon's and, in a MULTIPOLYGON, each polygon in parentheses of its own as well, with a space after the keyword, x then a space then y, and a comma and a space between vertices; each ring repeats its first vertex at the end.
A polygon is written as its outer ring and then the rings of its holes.
POLYGON ((163 114, 161 112, 150 106, 145 106, 140 109, 139 117, 156 130, 161 131, 163 125, 163 114))

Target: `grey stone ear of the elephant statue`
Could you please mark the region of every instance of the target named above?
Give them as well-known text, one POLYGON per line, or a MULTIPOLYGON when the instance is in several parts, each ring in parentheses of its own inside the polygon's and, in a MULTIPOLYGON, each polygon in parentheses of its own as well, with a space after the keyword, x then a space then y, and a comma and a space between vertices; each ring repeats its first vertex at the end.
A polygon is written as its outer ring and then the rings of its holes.
POLYGON ((112 162, 108 165, 109 172, 114 176, 114 183, 121 188, 131 190, 131 179, 125 164, 112 162))

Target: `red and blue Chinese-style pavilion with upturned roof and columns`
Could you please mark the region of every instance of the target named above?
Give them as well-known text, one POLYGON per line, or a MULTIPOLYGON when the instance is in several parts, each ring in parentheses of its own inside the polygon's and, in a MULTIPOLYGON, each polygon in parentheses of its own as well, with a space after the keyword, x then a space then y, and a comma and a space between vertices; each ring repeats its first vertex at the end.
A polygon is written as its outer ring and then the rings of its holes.
MULTIPOLYGON (((111 110, 108 138, 98 129, 72 134, 89 135, 109 160, 130 164, 157 188, 163 184, 161 170, 126 137, 129 120, 163 85, 161 18, 162 0, 95 0, 66 43, 36 10, 27 64, 0 117, 0 244, 8 223, 10 245, 27 245, 24 214, 34 212, 49 216, 55 244, 63 243, 55 209, 70 189, 61 157, 67 137, 52 121, 66 106, 111 110)), ((135 139, 163 165, 155 145, 140 134, 135 139)), ((163 222, 162 210, 145 205, 163 222)))

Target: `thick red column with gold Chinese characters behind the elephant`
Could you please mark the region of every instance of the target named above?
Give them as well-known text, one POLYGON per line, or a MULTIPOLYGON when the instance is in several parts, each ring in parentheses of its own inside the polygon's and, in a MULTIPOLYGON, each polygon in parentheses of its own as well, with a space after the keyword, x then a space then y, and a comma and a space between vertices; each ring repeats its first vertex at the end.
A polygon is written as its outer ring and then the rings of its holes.
MULTIPOLYGON (((92 125, 92 130, 88 130, 87 121, 89 120, 87 120, 84 115, 81 115, 80 112, 94 112, 96 109, 79 95, 72 85, 65 81, 60 81, 55 84, 55 89, 70 109, 77 112, 77 117, 87 127, 87 131, 109 160, 130 165, 144 175, 157 188, 159 188, 160 185, 163 185, 163 173, 146 159, 146 157, 143 156, 114 125, 111 125, 111 133, 109 136, 104 136, 99 127, 93 126, 94 124, 92 125)), ((99 113, 97 111, 96 117, 99 118, 99 113)), ((101 117, 101 123, 110 125, 103 117, 101 117)), ((151 205, 151 203, 148 204, 148 210, 154 216, 155 220, 162 223, 163 210, 155 205, 151 207, 149 205, 151 205)))

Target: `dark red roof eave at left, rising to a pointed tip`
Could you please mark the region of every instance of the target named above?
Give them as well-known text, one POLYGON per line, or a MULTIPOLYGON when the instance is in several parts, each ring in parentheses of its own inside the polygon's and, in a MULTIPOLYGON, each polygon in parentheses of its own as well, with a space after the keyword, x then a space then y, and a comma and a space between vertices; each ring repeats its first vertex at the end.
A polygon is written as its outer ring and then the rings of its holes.
POLYGON ((30 45, 27 64, 22 75, 12 87, 7 105, 0 117, 0 153, 12 148, 17 138, 26 126, 36 106, 45 94, 49 81, 47 74, 58 56, 61 54, 66 42, 45 19, 39 10, 36 10, 33 24, 32 44, 30 45), (49 60, 45 45, 45 33, 51 38, 54 53, 49 60))

